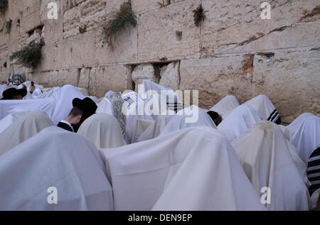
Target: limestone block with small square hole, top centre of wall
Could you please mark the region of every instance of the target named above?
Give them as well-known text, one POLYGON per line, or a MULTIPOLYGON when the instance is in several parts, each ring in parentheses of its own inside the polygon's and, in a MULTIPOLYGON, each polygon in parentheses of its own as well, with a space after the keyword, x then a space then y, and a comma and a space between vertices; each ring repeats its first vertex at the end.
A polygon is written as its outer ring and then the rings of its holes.
POLYGON ((186 0, 142 14, 138 28, 139 62, 198 58, 200 28, 193 23, 193 9, 200 3, 186 0))

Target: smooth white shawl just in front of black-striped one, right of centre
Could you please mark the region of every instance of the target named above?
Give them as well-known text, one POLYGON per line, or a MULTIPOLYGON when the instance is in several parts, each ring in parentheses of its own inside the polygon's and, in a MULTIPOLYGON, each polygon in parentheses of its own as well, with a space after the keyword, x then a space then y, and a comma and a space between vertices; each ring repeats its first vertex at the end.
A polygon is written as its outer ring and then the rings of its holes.
POLYGON ((221 131, 229 141, 238 138, 243 132, 260 122, 260 116, 255 109, 246 104, 235 108, 219 125, 221 131))

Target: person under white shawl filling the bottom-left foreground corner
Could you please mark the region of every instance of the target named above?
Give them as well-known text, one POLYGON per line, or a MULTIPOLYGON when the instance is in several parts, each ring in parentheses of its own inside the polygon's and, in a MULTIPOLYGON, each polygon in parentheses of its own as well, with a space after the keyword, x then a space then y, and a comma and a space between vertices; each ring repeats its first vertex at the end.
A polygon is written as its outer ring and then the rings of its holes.
POLYGON ((0 183, 0 210, 113 210, 94 143, 55 126, 0 157, 0 183))

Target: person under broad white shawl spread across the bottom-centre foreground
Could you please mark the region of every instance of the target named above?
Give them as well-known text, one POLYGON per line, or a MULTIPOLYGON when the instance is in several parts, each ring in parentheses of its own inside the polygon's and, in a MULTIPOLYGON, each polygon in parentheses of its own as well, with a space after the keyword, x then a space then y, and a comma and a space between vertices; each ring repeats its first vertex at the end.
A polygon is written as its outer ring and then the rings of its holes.
POLYGON ((265 210, 214 128, 186 128, 100 153, 115 210, 265 210))

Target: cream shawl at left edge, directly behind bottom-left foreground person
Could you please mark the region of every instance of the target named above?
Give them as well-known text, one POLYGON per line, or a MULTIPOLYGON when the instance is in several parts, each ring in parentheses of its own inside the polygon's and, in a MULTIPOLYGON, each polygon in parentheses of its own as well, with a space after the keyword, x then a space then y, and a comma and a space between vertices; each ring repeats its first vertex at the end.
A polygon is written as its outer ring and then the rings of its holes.
POLYGON ((0 155, 28 140, 28 138, 35 136, 48 126, 53 126, 53 123, 41 111, 33 111, 21 116, 14 124, 11 124, 9 128, 0 133, 0 155))

